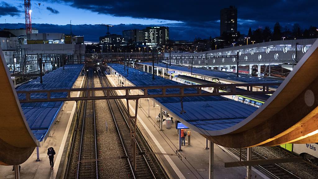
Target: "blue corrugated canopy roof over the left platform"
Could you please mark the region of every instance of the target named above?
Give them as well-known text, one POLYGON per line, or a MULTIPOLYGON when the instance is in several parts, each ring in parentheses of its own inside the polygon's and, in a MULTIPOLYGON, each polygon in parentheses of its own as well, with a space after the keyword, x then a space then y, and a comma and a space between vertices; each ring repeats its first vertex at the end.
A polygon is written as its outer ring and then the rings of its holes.
MULTIPOLYGON (((70 89, 79 76, 83 66, 83 64, 65 65, 65 69, 58 68, 45 74, 42 77, 43 83, 40 83, 40 77, 38 77, 17 87, 16 90, 70 89)), ((51 98, 66 96, 66 92, 51 93, 51 98)), ((46 93, 33 93, 31 97, 46 98, 46 93)), ((25 95, 19 94, 18 98, 25 99, 25 95)), ((21 103, 26 121, 37 140, 43 141, 62 105, 63 102, 21 103)))

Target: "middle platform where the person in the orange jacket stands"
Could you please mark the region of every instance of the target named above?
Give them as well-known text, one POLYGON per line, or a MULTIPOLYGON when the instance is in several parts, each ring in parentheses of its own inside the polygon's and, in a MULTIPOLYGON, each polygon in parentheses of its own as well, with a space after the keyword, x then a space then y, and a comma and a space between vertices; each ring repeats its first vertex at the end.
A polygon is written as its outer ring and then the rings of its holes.
MULTIPOLYGON (((107 78, 113 86, 121 86, 121 80, 118 79, 118 75, 107 75, 107 78)), ((142 77, 140 77, 140 79, 142 80, 142 77)), ((127 80, 124 85, 135 86, 127 80)), ((124 90, 117 91, 117 93, 125 95, 124 90)), ((130 93, 137 95, 140 94, 140 91, 131 90, 130 93)), ((126 106, 126 100, 122 100, 122 102, 126 106)), ((187 136, 186 145, 181 147, 183 150, 180 152, 181 156, 176 156, 176 150, 179 149, 179 143, 175 123, 173 123, 172 127, 168 129, 165 125, 163 125, 163 130, 160 131, 160 122, 157 122, 156 119, 160 113, 160 107, 162 107, 160 106, 160 103, 154 99, 149 99, 149 101, 147 99, 140 99, 138 104, 137 125, 151 146, 153 152, 159 153, 156 154, 156 156, 167 172, 169 178, 208 178, 209 150, 205 149, 205 138, 193 129, 187 129, 188 131, 191 131, 190 146, 187 136)), ((135 101, 130 100, 129 107, 131 113, 135 113, 135 101)), ((171 114, 169 114, 169 116, 173 117, 173 121, 175 122, 177 116, 173 116, 171 114)), ((224 163, 230 161, 238 161, 238 157, 231 153, 227 148, 214 144, 214 178, 245 178, 246 167, 224 167, 224 163)), ((253 168, 252 176, 268 179, 267 176, 255 168, 253 168)))

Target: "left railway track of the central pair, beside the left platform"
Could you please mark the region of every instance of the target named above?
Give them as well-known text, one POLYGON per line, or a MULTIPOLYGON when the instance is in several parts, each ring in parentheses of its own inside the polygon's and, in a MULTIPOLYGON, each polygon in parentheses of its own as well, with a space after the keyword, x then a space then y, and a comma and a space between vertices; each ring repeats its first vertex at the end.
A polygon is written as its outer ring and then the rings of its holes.
MULTIPOLYGON (((93 87, 93 72, 86 76, 86 87, 93 87)), ((92 92, 90 92, 92 93, 92 92)), ((88 95, 88 94, 86 94, 88 95)), ((66 169, 67 179, 98 179, 95 106, 93 100, 80 105, 77 124, 72 141, 71 154, 66 169)))

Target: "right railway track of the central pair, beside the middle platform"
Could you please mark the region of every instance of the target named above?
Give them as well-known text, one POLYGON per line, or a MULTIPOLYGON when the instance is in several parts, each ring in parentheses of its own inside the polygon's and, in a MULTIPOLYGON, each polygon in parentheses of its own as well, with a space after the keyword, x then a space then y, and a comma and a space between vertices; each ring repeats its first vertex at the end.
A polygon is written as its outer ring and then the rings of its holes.
MULTIPOLYGON (((103 87, 108 87, 109 82, 107 78, 101 73, 98 73, 100 76, 100 82, 103 87)), ((105 91, 104 94, 106 95, 105 91)), ((116 95, 116 94, 111 94, 116 95)), ((126 119, 128 115, 124 109, 124 106, 121 104, 121 101, 116 100, 107 100, 111 115, 113 117, 121 144, 123 147, 124 157, 127 157, 127 167, 131 170, 131 178, 140 178, 140 179, 150 179, 150 178, 167 178, 162 167, 159 165, 156 157, 151 153, 150 147, 147 145, 147 142, 143 139, 140 131, 137 131, 136 141, 137 141, 137 156, 136 156, 136 170, 132 167, 132 161, 129 160, 131 157, 131 138, 129 125, 126 119)))

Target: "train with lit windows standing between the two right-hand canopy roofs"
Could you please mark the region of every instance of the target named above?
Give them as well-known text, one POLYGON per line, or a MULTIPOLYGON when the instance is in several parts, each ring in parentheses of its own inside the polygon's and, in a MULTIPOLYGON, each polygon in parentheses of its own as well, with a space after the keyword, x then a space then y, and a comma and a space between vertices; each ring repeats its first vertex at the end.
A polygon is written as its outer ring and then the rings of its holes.
MULTIPOLYGON (((173 81, 187 84, 187 85, 194 85, 194 84, 211 84, 211 83, 221 83, 218 78, 214 78, 213 81, 202 80, 198 78, 194 78, 191 76, 186 75, 176 75, 172 78, 173 81)), ((213 92, 212 88, 202 88, 205 91, 213 92)), ((225 88, 220 91, 230 91, 230 88, 225 88)), ((245 89, 236 88, 236 91, 245 91, 245 89)), ((225 96, 232 100, 248 104, 250 106, 254 106, 259 108, 264 102, 270 97, 269 95, 233 95, 232 97, 225 96)))

